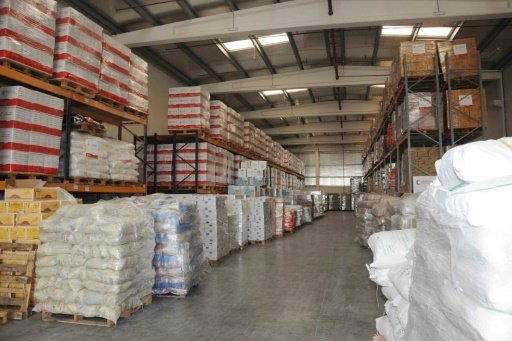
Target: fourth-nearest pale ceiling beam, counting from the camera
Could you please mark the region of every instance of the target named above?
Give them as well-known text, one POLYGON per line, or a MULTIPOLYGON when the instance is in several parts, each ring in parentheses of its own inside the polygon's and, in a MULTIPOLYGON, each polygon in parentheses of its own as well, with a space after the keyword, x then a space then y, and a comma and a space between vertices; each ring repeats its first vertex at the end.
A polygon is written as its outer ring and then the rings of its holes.
POLYGON ((346 121, 343 126, 340 122, 321 122, 308 124, 295 124, 288 127, 277 127, 263 129, 267 135, 295 135, 295 134, 311 134, 311 133, 347 133, 356 131, 369 131, 372 121, 346 121))

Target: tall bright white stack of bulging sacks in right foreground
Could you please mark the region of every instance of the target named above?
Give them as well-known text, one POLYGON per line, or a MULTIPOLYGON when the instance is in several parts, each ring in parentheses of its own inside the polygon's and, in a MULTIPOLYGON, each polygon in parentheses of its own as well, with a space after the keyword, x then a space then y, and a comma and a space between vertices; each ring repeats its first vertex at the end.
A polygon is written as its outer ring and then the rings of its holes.
POLYGON ((469 143, 437 162, 416 205, 405 340, 510 339, 511 145, 469 143))

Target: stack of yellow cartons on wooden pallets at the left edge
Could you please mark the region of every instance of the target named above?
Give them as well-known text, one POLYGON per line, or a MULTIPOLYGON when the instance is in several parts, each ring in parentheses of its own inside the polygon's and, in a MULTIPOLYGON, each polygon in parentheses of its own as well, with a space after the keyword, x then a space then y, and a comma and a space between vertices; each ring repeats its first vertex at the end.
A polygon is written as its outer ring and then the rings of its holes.
POLYGON ((69 200, 59 200, 60 188, 6 188, 0 201, 0 242, 39 244, 39 224, 69 200))

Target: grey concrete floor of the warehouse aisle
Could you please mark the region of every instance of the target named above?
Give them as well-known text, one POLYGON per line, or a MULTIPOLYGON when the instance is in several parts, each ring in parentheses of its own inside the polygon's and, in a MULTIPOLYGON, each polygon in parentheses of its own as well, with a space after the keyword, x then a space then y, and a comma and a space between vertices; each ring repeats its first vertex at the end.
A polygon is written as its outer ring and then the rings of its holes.
POLYGON ((43 322, 0 326, 0 340, 369 341, 382 310, 354 241, 353 212, 330 212, 295 234, 249 246, 212 269, 186 299, 153 304, 114 328, 43 322))

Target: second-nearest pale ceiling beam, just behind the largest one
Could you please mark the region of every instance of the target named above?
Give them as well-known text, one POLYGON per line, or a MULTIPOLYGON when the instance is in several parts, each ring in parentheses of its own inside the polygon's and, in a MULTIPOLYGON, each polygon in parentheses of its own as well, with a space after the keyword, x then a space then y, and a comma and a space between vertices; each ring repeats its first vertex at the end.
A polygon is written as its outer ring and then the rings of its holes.
POLYGON ((384 84, 389 70, 389 67, 386 66, 341 66, 340 79, 336 80, 332 74, 332 67, 322 67, 211 83, 204 86, 210 93, 240 93, 260 90, 374 85, 384 84))

